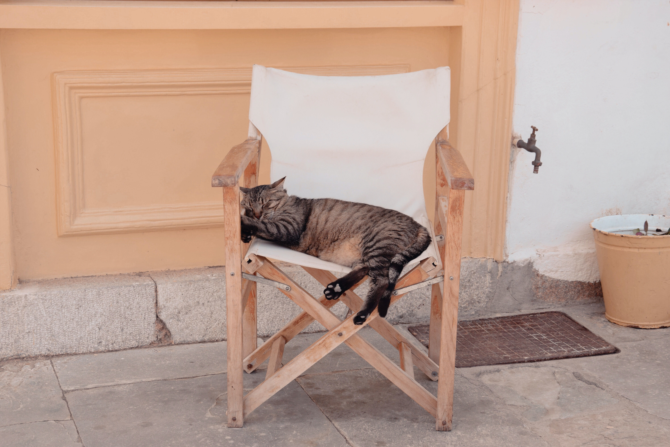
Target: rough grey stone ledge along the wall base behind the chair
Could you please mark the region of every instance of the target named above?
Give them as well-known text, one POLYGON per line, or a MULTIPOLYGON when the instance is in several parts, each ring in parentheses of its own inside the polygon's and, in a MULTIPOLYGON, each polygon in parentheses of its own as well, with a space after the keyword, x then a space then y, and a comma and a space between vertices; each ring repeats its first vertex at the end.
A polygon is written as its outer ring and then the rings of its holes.
MULTIPOLYGON (((321 296, 323 286, 301 267, 279 267, 321 296)), ((0 360, 225 340, 225 273, 225 267, 204 267, 20 283, 0 293, 0 360)), ((357 293, 364 297, 367 290, 363 284, 357 293)), ((387 320, 429 320, 430 291, 410 292, 389 309, 387 320)), ((259 284, 258 295, 259 336, 274 334, 300 312, 276 288, 259 284)), ((600 300, 599 283, 543 277, 531 263, 462 261, 461 320, 600 300)), ((338 303, 332 311, 344 318, 347 309, 338 303)), ((323 330, 314 322, 304 332, 323 330)))

